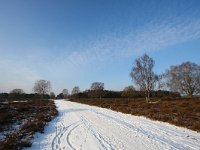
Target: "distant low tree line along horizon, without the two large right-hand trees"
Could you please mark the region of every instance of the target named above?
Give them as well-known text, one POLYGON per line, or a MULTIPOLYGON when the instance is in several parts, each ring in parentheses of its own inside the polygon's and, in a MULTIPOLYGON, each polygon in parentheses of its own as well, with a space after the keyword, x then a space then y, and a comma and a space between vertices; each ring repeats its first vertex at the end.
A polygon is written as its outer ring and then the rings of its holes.
MULTIPOLYGON (((78 86, 72 89, 69 94, 67 89, 63 89, 57 96, 54 92, 50 92, 50 82, 38 80, 35 82, 33 90, 35 93, 26 94, 22 89, 13 89, 10 93, 0 93, 0 100, 29 100, 29 99, 67 99, 67 98, 143 98, 145 92, 137 91, 133 86, 127 86, 123 91, 111 91, 104 89, 104 83, 94 82, 90 89, 80 91, 78 86), (46 85, 41 85, 46 84, 46 85), (41 88, 40 90, 38 88, 41 88)), ((177 92, 170 91, 152 91, 151 97, 179 97, 177 92)))

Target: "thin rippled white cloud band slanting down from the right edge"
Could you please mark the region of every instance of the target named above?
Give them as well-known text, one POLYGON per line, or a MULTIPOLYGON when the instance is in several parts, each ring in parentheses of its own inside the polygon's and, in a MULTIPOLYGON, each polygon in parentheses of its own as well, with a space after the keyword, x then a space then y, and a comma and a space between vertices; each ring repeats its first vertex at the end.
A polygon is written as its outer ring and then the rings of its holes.
POLYGON ((162 50, 168 46, 200 38, 200 20, 149 22, 139 30, 130 29, 127 34, 115 33, 88 43, 88 47, 66 56, 72 65, 92 65, 132 57, 144 52, 162 50))

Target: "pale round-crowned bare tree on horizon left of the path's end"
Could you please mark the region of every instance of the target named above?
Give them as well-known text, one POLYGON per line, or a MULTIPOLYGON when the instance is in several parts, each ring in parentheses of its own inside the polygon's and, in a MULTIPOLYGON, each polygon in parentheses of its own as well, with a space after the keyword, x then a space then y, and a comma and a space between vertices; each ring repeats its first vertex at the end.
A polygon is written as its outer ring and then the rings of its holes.
POLYGON ((33 87, 33 91, 35 93, 38 93, 42 96, 49 93, 51 90, 51 82, 47 80, 38 80, 35 82, 35 85, 33 87))

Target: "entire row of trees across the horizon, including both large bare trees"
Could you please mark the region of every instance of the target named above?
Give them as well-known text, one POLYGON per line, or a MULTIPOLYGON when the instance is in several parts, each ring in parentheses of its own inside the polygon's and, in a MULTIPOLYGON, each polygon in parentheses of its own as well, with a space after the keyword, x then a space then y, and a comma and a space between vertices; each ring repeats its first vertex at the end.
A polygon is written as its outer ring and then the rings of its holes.
POLYGON ((93 82, 89 89, 80 91, 78 86, 69 94, 67 89, 55 95, 51 91, 51 82, 38 80, 33 87, 33 94, 26 94, 22 89, 13 89, 10 93, 0 93, 0 99, 63 99, 63 98, 143 98, 147 102, 150 97, 179 97, 180 95, 200 94, 200 66, 192 62, 183 62, 171 66, 162 74, 153 70, 155 61, 147 54, 135 59, 130 72, 134 83, 123 91, 104 89, 104 83, 93 82), (136 90, 137 89, 137 90, 136 90))

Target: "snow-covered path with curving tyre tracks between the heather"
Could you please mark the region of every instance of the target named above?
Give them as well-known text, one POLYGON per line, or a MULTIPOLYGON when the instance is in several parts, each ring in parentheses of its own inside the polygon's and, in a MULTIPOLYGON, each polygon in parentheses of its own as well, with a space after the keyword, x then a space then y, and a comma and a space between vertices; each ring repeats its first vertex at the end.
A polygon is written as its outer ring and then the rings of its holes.
POLYGON ((59 116, 44 134, 37 133, 34 150, 200 150, 200 133, 112 110, 55 101, 59 116))

